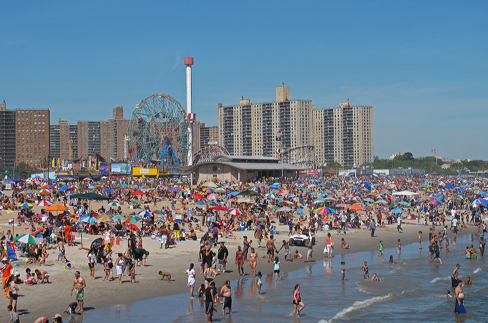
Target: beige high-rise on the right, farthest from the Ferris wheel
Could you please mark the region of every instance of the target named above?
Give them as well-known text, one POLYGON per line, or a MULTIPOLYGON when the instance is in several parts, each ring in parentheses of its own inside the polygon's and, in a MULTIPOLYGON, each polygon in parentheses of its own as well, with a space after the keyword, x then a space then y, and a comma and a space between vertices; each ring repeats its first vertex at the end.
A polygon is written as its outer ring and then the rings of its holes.
POLYGON ((314 141, 319 165, 373 162, 373 107, 351 106, 347 100, 338 108, 315 110, 314 141))

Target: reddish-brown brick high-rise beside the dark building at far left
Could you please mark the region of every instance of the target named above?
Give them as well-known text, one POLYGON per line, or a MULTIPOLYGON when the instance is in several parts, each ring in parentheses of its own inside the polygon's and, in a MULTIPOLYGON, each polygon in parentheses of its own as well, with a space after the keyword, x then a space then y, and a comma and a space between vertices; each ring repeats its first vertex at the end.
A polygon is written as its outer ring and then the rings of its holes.
POLYGON ((15 164, 49 160, 49 110, 15 110, 15 164))

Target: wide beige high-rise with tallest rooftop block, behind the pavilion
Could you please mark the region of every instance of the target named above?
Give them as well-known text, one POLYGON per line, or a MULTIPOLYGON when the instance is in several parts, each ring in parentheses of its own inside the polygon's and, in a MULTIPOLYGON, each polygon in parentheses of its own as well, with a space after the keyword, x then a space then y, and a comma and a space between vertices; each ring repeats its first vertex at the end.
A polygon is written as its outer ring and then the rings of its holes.
POLYGON ((276 156, 278 149, 312 145, 311 100, 290 100, 290 87, 276 87, 276 101, 219 104, 219 143, 232 155, 276 156))

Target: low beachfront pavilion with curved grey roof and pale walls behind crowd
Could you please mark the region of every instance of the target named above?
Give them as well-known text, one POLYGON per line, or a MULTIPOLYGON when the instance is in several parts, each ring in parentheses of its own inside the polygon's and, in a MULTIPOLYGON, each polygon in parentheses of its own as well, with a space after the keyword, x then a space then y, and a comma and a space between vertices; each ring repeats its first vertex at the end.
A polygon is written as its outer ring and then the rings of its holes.
POLYGON ((195 172, 195 182, 253 182, 268 177, 297 177, 304 168, 281 163, 278 158, 264 156, 217 156, 185 169, 195 172))

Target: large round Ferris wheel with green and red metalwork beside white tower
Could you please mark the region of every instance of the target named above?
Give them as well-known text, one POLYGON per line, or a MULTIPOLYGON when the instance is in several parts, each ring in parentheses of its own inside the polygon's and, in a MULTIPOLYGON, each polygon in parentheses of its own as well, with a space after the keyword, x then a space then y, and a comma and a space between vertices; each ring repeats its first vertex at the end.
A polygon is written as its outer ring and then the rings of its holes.
POLYGON ((180 102, 154 94, 136 106, 129 122, 128 153, 134 162, 169 168, 186 165, 188 117, 180 102))

